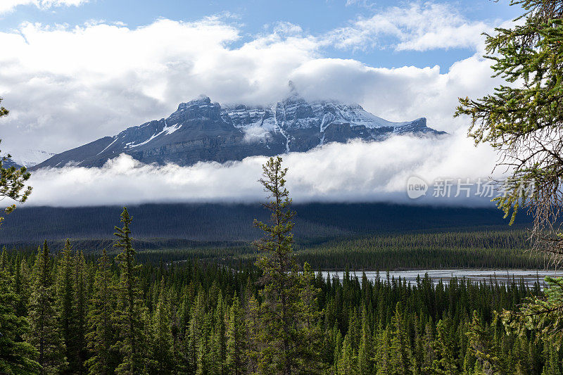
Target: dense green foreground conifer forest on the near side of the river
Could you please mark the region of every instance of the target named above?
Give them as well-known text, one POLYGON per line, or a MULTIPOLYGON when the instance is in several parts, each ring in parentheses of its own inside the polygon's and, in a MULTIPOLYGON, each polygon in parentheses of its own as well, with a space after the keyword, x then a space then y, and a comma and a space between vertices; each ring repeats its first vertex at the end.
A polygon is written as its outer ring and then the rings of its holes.
MULTIPOLYGON (((257 260, 141 264, 124 208, 113 250, 0 258, 0 371, 7 374, 560 374, 553 336, 510 329, 529 286, 381 274, 315 274, 293 253, 286 170, 261 180, 269 222, 257 260)), ((385 239, 381 239, 385 242, 385 239)), ((417 242, 416 237, 413 239, 417 242)), ((422 241, 422 240, 418 240, 422 241)), ((158 258, 157 258, 158 259, 158 258)))

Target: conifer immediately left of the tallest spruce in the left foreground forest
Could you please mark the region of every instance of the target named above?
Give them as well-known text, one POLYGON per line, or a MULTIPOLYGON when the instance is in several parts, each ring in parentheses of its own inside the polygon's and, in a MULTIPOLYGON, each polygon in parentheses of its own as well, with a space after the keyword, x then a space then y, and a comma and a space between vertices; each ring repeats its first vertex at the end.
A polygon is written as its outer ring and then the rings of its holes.
POLYGON ((87 343, 91 357, 84 363, 90 375, 113 374, 118 365, 119 352, 115 341, 115 286, 106 249, 103 250, 94 277, 94 294, 89 303, 87 343))

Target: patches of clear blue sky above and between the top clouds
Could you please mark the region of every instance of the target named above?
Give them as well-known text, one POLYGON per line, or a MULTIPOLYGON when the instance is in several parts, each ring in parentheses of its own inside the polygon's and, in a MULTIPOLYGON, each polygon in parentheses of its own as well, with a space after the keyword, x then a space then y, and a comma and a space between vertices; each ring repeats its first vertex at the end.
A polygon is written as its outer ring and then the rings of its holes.
MULTIPOLYGON (((13 1, 13 0, 6 0, 13 1)), ((23 0, 25 1, 25 0, 23 0)), ((440 2, 436 1, 436 4, 440 2)), ((346 27, 358 18, 369 18, 374 13, 393 6, 407 6, 407 1, 184 1, 184 0, 90 0, 80 6, 51 6, 40 8, 33 4, 19 5, 10 13, 0 15, 0 30, 17 29, 23 23, 42 25, 84 25, 94 21, 125 23, 141 27, 158 18, 196 21, 210 15, 222 15, 227 22, 241 30, 241 39, 232 46, 247 42, 256 34, 272 30, 279 22, 299 25, 309 34, 323 34, 338 27, 346 27)), ((419 2, 424 4, 424 2, 419 2)), ((519 15, 519 8, 508 1, 448 1, 468 21, 495 23, 519 15)), ((403 65, 440 65, 449 67, 455 61, 471 56, 473 49, 457 47, 432 51, 392 51, 389 49, 336 49, 327 46, 322 53, 327 57, 354 58, 372 66, 393 68, 403 65)))

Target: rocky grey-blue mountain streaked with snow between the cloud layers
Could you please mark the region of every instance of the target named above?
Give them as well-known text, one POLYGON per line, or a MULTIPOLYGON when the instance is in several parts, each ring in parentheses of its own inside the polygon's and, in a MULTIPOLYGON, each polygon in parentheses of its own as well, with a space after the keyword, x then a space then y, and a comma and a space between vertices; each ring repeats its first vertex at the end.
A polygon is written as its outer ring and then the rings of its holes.
POLYGON ((127 153, 143 163, 193 165, 198 161, 242 160, 252 155, 304 152, 348 139, 381 141, 391 134, 445 134, 426 127, 424 117, 389 122, 358 105, 307 102, 293 94, 268 107, 225 106, 201 96, 181 103, 170 117, 129 127, 54 155, 41 167, 100 167, 127 153))

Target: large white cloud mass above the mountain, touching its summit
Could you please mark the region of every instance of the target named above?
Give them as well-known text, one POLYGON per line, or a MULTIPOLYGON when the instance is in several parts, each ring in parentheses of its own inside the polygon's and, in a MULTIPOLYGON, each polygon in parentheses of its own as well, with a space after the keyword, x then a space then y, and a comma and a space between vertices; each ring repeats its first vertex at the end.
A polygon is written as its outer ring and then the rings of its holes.
POLYGON ((224 17, 137 28, 27 23, 0 32, 0 97, 11 110, 0 119, 2 145, 61 152, 165 117, 199 94, 222 104, 272 103, 288 93, 289 80, 308 98, 360 103, 394 121, 424 116, 453 132, 467 127, 452 118, 457 96, 481 96, 498 83, 479 53, 447 71, 391 69, 325 58, 325 39, 288 23, 241 39, 224 17))

